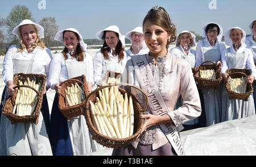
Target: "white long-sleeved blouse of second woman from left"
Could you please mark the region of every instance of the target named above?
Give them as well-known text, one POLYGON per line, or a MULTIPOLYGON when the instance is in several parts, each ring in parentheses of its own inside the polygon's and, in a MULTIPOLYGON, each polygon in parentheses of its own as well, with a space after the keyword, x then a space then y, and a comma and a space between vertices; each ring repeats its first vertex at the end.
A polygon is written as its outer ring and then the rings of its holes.
MULTIPOLYGON (((86 62, 87 67, 86 81, 88 83, 92 82, 94 84, 92 57, 89 55, 89 53, 85 53, 85 55, 86 56, 84 57, 84 61, 86 62)), ((55 89, 54 87, 56 83, 60 83, 69 79, 65 61, 72 62, 77 60, 76 58, 71 57, 68 53, 67 56, 68 59, 65 60, 62 53, 57 53, 52 59, 49 72, 49 86, 51 89, 55 89)))

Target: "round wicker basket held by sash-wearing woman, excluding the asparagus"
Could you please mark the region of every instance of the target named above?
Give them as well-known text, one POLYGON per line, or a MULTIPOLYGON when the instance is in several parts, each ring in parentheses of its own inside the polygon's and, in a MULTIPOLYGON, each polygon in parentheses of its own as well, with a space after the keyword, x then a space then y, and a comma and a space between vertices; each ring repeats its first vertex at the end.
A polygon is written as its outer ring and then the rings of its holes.
MULTIPOLYGON (((121 92, 122 95, 125 95, 125 93, 127 93, 128 96, 131 95, 129 92, 127 92, 124 89, 121 89, 120 87, 118 87, 118 90, 121 92)), ((99 87, 98 89, 92 91, 92 93, 90 93, 88 95, 88 97, 85 99, 85 103, 86 103, 86 110, 84 112, 84 116, 86 119, 86 124, 88 126, 89 132, 92 135, 92 139, 96 140, 97 143, 99 143, 105 147, 109 147, 109 148, 125 147, 126 145, 131 144, 142 130, 143 120, 140 118, 140 115, 142 113, 144 113, 144 111, 146 110, 147 95, 146 95, 146 93, 144 93, 143 90, 139 89, 139 87, 136 87, 134 85, 129 85, 128 83, 116 83, 116 84, 112 84, 112 85, 102 86, 102 87, 99 87), (115 86, 115 85, 119 85, 119 86, 125 85, 125 86, 134 87, 135 89, 138 89, 139 91, 141 91, 141 93, 144 95, 144 97, 146 99, 145 106, 142 108, 142 106, 139 104, 137 99, 132 95, 133 106, 134 106, 134 133, 132 136, 126 137, 123 139, 117 139, 117 138, 113 138, 113 137, 111 138, 111 137, 102 135, 93 126, 93 122, 91 119, 92 113, 90 111, 89 101, 92 101, 93 103, 96 101, 96 96, 98 97, 98 90, 104 89, 105 87, 115 86)))

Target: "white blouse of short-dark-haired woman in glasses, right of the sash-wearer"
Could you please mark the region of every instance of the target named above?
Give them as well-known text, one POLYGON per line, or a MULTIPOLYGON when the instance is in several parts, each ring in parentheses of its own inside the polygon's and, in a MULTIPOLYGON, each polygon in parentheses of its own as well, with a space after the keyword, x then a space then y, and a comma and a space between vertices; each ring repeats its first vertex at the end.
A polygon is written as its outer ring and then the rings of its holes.
MULTIPOLYGON (((212 48, 212 46, 210 45, 207 37, 204 39, 205 40, 205 48, 206 49, 217 49, 217 45, 219 43, 220 45, 220 54, 222 53, 222 51, 226 48, 226 45, 220 41, 217 41, 216 44, 214 45, 214 47, 212 48)), ((203 49, 203 41, 200 41, 199 43, 197 43, 196 45, 196 66, 197 65, 201 65, 205 59, 204 59, 204 49, 203 49)))

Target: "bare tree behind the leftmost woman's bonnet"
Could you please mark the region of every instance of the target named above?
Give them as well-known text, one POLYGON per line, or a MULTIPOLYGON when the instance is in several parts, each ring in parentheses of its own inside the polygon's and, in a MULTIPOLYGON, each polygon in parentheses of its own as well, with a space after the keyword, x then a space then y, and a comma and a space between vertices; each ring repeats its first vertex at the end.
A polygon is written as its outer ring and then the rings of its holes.
POLYGON ((19 43, 18 39, 15 37, 15 35, 13 35, 12 31, 13 31, 13 28, 18 26, 19 23, 22 22, 22 20, 24 19, 30 19, 33 22, 35 22, 35 20, 32 18, 31 12, 28 10, 26 6, 15 5, 13 9, 11 9, 11 12, 7 16, 6 22, 5 22, 6 28, 7 28, 7 34, 9 36, 9 40, 11 41, 11 43, 14 43, 14 44, 19 43))

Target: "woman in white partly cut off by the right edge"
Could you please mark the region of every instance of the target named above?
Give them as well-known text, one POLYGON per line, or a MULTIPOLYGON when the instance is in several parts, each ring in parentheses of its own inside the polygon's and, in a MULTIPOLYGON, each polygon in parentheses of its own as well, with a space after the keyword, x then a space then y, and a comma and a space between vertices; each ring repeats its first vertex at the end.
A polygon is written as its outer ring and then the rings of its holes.
MULTIPOLYGON (((253 53, 253 61, 256 64, 256 19, 250 22, 249 29, 251 31, 251 35, 246 37, 245 44, 246 47, 251 50, 253 53)), ((253 82, 253 98, 254 98, 254 106, 256 108, 256 85, 253 82)))

